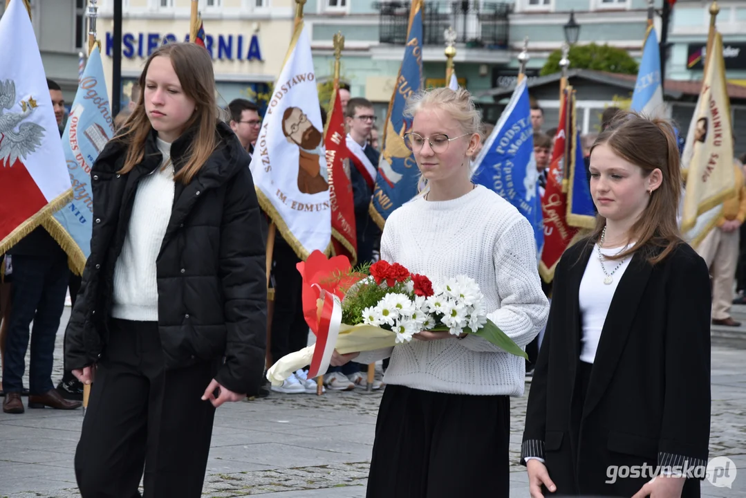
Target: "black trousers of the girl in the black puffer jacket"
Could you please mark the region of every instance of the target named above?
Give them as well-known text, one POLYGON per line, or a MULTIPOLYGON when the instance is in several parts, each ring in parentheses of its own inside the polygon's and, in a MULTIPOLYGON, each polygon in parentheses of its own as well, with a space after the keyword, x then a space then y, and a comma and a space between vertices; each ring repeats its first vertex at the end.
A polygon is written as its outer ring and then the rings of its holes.
POLYGON ((202 401, 219 365, 166 370, 157 323, 111 320, 95 373, 75 477, 83 498, 202 494, 215 408, 202 401))

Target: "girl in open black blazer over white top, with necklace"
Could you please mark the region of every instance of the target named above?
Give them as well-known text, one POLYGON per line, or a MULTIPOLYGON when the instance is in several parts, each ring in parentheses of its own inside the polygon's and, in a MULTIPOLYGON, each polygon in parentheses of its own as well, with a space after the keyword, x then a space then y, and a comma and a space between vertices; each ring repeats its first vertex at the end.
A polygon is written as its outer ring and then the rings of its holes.
POLYGON ((699 497, 709 276, 677 228, 674 131, 623 113, 591 150, 598 221, 557 264, 528 399, 531 497, 699 497))

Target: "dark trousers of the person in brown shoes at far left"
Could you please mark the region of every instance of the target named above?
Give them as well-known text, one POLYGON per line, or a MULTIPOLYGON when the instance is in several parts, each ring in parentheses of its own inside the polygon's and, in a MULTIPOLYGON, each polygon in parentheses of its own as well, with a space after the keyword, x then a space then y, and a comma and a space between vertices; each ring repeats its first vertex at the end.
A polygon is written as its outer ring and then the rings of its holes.
POLYGON ((54 389, 51 370, 54 340, 65 308, 65 290, 69 270, 67 256, 61 250, 48 257, 13 255, 13 288, 10 292, 10 320, 5 340, 2 371, 6 393, 23 390, 23 373, 31 332, 31 362, 28 388, 31 394, 54 389))

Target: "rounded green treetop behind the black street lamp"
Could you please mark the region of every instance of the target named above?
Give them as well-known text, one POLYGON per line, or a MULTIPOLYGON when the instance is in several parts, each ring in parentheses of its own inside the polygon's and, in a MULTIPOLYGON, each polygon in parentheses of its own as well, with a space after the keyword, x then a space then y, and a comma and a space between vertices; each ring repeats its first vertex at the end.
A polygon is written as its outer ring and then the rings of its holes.
MULTIPOLYGON (((608 45, 575 45, 570 48, 570 69, 594 69, 595 71, 617 72, 626 75, 636 75, 639 63, 624 49, 617 49, 608 45)), ((542 67, 541 75, 551 75, 560 72, 562 51, 555 50, 549 55, 542 67)))

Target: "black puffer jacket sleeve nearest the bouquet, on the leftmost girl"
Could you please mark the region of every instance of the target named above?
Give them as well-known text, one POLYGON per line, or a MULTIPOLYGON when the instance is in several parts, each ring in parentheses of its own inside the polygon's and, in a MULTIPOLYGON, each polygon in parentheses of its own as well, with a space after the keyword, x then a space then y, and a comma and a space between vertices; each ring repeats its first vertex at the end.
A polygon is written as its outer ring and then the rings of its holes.
POLYGON ((220 230, 219 276, 228 340, 216 380, 235 393, 257 393, 267 336, 266 240, 248 166, 229 181, 220 230))

